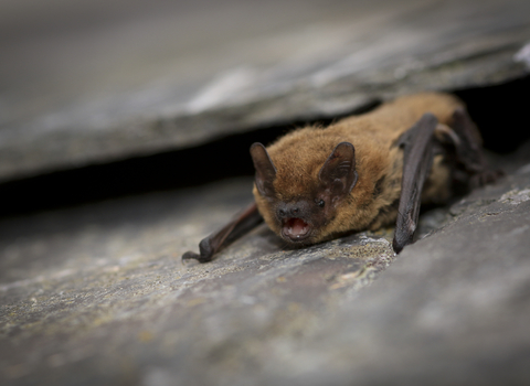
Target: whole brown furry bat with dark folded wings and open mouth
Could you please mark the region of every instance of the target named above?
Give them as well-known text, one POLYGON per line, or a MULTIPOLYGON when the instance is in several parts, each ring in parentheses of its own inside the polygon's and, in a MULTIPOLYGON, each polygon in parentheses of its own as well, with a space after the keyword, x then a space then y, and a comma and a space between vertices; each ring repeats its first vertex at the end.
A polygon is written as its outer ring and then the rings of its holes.
POLYGON ((421 204, 446 202, 455 186, 496 181, 481 138, 455 96, 400 97, 327 128, 295 130, 265 148, 253 143, 255 202, 202 239, 206 262, 263 221, 293 246, 308 246, 395 222, 392 246, 414 240, 421 204))

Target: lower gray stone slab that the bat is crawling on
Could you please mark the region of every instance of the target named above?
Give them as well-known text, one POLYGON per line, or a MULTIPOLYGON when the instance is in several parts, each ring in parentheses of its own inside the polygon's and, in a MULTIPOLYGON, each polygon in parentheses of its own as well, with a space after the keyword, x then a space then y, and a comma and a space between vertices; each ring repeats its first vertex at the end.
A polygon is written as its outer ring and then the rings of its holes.
POLYGON ((183 266, 247 179, 3 219, 0 383, 527 385, 529 149, 399 256, 391 229, 289 250, 261 227, 183 266))

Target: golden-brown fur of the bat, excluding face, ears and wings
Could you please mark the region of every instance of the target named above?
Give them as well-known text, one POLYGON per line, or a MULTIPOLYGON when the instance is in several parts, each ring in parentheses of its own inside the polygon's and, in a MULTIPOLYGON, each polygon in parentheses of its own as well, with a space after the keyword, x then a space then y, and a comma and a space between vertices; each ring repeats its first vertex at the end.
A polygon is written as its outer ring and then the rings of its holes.
MULTIPOLYGON (((394 222, 403 171, 403 151, 395 146, 396 140, 427 111, 448 126, 458 106, 463 104, 451 95, 416 94, 398 98, 371 112, 344 118, 326 129, 308 127, 288 133, 267 148, 277 169, 274 181, 277 199, 289 202, 307 197, 317 189, 318 173, 331 151, 346 141, 356 149, 358 182, 311 243, 349 230, 377 229, 394 222)), ((442 156, 437 156, 422 201, 447 199, 449 174, 442 156)), ((262 197, 256 186, 253 193, 265 222, 279 234, 271 201, 262 197)))

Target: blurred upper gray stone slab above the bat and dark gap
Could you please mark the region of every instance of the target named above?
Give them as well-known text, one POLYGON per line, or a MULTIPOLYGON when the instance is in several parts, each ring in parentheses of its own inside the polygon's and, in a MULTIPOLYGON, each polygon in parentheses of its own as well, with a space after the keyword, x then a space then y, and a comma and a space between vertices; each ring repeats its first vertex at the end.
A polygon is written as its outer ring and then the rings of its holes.
POLYGON ((528 73, 530 2, 0 4, 0 181, 528 73))

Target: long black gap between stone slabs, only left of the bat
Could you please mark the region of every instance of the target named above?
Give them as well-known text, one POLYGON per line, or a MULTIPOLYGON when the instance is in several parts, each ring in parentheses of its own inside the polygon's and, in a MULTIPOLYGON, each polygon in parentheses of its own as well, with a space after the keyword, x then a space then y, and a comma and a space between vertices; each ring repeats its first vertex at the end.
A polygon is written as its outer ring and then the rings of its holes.
MULTIPOLYGON (((362 114, 378 106, 373 101, 344 114, 362 114)), ((57 171, 23 180, 0 183, 0 216, 75 206, 153 191, 197 186, 209 181, 253 175, 248 149, 254 142, 265 146, 306 125, 327 126, 332 119, 296 121, 252 130, 178 151, 138 157, 105 164, 57 171)))

